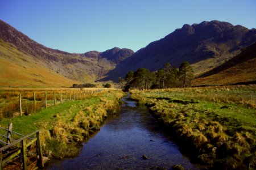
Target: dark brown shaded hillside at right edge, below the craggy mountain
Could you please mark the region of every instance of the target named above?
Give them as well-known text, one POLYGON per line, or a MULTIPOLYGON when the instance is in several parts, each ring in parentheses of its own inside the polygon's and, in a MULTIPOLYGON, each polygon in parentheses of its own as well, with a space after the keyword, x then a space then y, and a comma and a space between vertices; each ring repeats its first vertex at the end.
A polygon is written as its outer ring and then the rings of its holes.
POLYGON ((256 82, 256 42, 193 81, 194 86, 256 82))

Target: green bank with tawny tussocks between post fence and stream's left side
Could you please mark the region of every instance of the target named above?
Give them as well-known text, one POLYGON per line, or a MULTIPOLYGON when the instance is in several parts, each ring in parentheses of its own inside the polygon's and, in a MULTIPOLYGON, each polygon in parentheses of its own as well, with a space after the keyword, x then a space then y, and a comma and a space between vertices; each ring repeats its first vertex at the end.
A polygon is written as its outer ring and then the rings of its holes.
POLYGON ((121 91, 102 91, 84 100, 67 101, 28 116, 5 118, 0 126, 13 122, 13 131, 28 134, 40 130, 44 155, 61 159, 75 156, 89 134, 100 128, 109 114, 119 112, 121 91))

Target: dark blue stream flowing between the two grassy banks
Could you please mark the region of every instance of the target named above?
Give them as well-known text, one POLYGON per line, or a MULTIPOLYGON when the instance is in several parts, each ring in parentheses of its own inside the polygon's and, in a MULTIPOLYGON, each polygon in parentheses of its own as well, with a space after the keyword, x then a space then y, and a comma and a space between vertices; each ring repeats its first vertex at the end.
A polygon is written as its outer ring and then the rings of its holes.
POLYGON ((171 169, 176 164, 200 169, 180 153, 146 107, 128 97, 123 101, 121 113, 106 120, 76 158, 52 163, 47 169, 171 169))

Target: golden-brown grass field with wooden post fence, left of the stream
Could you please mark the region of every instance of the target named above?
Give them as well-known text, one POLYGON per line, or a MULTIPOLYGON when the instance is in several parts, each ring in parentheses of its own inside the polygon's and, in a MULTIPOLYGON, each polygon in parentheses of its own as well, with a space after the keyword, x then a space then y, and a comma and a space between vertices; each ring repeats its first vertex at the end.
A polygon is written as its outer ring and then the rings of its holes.
POLYGON ((83 100, 103 91, 97 88, 5 89, 0 90, 0 119, 32 114, 51 105, 70 100, 83 100))

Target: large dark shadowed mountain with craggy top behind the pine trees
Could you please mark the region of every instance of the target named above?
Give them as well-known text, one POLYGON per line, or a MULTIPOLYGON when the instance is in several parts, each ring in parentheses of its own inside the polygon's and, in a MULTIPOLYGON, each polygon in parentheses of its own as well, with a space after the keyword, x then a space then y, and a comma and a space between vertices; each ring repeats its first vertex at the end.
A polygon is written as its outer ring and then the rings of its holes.
POLYGON ((163 39, 151 42, 133 56, 120 62, 102 80, 117 80, 130 70, 139 67, 151 71, 163 67, 164 63, 179 66, 191 63, 195 74, 203 74, 241 53, 241 49, 256 42, 256 29, 213 20, 200 24, 184 24, 163 39))

